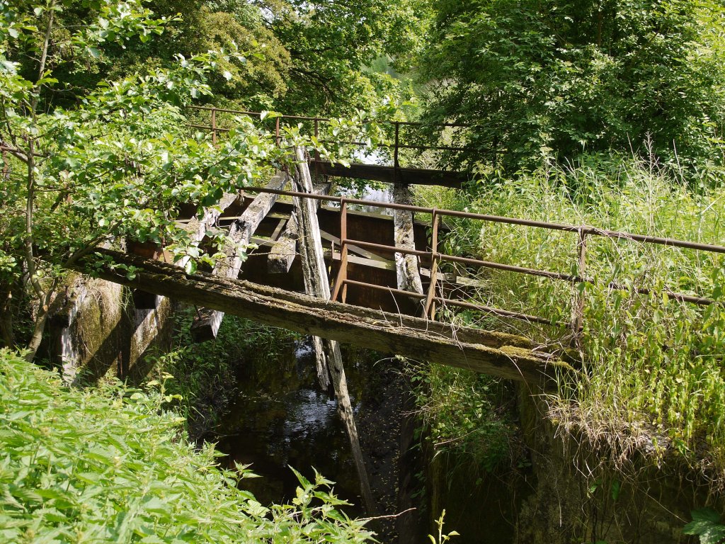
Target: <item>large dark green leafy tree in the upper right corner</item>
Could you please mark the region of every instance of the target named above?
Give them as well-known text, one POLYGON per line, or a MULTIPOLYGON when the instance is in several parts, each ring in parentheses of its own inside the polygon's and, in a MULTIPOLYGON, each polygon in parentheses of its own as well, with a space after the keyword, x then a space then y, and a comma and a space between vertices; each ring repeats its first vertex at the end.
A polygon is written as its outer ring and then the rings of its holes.
POLYGON ((513 173, 629 152, 648 135, 663 162, 721 164, 720 3, 447 0, 434 10, 428 118, 473 125, 458 164, 513 173))

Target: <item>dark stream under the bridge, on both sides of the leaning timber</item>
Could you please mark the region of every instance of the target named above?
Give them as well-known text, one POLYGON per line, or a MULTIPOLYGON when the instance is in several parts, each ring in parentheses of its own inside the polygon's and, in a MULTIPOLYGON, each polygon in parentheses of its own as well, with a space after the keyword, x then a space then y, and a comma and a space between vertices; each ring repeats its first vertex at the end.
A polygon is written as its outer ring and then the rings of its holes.
MULTIPOLYGON (((420 471, 411 461, 411 421, 405 421, 407 384, 397 360, 378 360, 374 353, 344 350, 345 370, 360 443, 365 454, 373 495, 380 514, 397 514, 418 506, 397 519, 376 522, 371 528, 385 543, 421 542, 428 527, 424 508, 413 504, 414 478, 420 471), (403 455, 401 451, 403 450, 403 455), (399 490, 403 493, 399 493, 399 490), (399 532, 410 538, 398 539, 399 532)), ((295 497, 299 485, 289 467, 310 481, 315 470, 335 482, 334 493, 351 503, 342 509, 363 517, 360 485, 345 427, 336 401, 320 391, 315 357, 309 339, 294 342, 275 360, 236 366, 237 389, 221 421, 218 450, 226 463, 251 464, 260 478, 243 479, 244 489, 262 504, 295 497)))

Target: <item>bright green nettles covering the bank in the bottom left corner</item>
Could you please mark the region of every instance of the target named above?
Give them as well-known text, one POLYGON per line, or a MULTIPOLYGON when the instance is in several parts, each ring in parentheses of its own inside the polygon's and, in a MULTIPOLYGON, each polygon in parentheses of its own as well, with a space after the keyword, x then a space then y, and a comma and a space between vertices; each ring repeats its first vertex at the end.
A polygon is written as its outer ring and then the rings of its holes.
MULTIPOLYGON (((151 384, 149 384, 150 386, 151 384)), ((0 351, 0 538, 14 543, 362 543, 332 482, 299 476, 290 505, 265 508, 196 450, 159 390, 68 390, 0 351)), ((244 482, 241 483, 244 485, 244 482)))

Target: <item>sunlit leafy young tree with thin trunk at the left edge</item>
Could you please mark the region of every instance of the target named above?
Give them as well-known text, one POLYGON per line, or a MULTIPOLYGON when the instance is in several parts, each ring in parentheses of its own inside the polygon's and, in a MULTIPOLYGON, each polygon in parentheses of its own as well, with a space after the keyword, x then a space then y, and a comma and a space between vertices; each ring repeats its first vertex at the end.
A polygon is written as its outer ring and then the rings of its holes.
MULTIPOLYGON (((292 146, 318 144, 291 127, 276 146, 251 118, 237 119, 216 146, 186 128, 181 108, 210 96, 207 76, 244 62, 239 51, 177 56, 120 81, 72 88, 75 107, 54 105, 70 88, 63 74, 97 64, 104 46, 148 41, 173 22, 155 19, 140 0, 0 0, 0 291, 22 282, 37 300, 30 359, 67 266, 128 238, 191 255, 193 268, 213 256, 176 226, 181 204, 201 213, 281 168, 292 146)), ((370 123, 364 130, 375 137, 370 123)))

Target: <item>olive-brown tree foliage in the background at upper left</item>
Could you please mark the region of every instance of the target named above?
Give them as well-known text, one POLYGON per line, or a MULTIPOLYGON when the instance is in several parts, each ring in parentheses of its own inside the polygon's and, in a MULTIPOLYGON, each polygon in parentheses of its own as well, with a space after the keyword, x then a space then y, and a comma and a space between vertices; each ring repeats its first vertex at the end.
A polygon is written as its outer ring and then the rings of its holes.
MULTIPOLYGON (((77 3, 55 15, 51 41, 62 44, 69 32, 94 17, 92 2, 77 3)), ((289 53, 262 24, 260 9, 246 2, 204 0, 160 0, 153 2, 154 17, 167 21, 164 32, 154 39, 104 41, 92 55, 77 55, 72 49, 57 50, 54 75, 62 86, 46 89, 41 104, 72 107, 80 96, 101 81, 117 80, 129 72, 163 67, 175 55, 194 57, 207 51, 241 49, 244 58, 218 59, 220 66, 209 74, 207 84, 218 99, 238 107, 269 109, 273 99, 286 91, 289 53)), ((17 44, 14 59, 20 73, 33 78, 37 59, 32 51, 17 44)))

